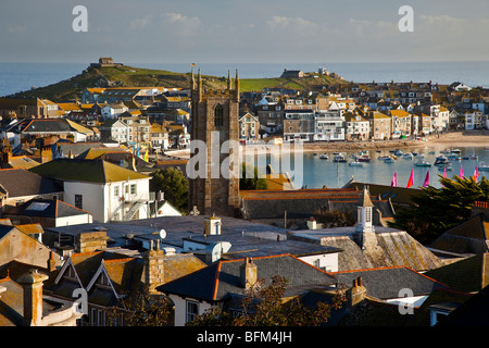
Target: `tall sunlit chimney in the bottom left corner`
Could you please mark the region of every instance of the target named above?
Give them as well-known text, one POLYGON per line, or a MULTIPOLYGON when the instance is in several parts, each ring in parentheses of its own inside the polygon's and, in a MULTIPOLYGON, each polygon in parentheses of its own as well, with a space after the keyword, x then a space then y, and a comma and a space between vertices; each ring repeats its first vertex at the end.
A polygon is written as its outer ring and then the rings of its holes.
POLYGON ((24 325, 40 326, 42 324, 42 282, 48 279, 46 274, 37 270, 22 275, 17 283, 24 288, 24 325))

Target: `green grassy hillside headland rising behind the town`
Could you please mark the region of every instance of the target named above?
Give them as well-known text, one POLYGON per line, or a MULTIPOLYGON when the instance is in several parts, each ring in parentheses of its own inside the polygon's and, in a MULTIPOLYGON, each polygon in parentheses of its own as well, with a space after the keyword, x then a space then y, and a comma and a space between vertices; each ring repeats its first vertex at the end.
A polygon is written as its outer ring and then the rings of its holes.
MULTIPOLYGON (((312 75, 312 74, 311 74, 312 75)), ((68 79, 32 90, 9 96, 9 98, 41 98, 54 102, 78 100, 83 90, 89 87, 151 87, 188 88, 190 73, 174 73, 162 70, 139 69, 133 66, 89 66, 79 75, 68 79)), ((206 88, 226 88, 227 77, 203 75, 206 88)), ((263 88, 321 88, 341 80, 329 76, 308 76, 303 78, 240 78, 241 91, 259 91, 263 88)))

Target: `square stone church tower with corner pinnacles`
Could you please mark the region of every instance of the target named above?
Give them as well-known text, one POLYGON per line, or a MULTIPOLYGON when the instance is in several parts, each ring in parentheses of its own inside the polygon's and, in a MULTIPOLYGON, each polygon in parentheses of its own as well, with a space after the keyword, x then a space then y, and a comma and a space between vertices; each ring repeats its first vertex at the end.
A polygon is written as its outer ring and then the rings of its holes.
POLYGON ((239 76, 233 88, 230 73, 227 89, 202 87, 199 70, 197 83, 191 80, 191 130, 189 175, 189 210, 203 215, 235 216, 239 210, 239 76), (201 140, 201 141, 195 141, 201 140), (230 140, 230 141, 226 141, 230 140), (202 144, 205 147, 202 148, 202 144), (203 151, 204 153, 199 153, 203 151), (195 161, 196 156, 205 163, 195 161), (197 162, 197 165, 196 165, 197 162), (228 171, 228 172, 226 172, 228 171), (199 172, 200 174, 191 175, 199 172))

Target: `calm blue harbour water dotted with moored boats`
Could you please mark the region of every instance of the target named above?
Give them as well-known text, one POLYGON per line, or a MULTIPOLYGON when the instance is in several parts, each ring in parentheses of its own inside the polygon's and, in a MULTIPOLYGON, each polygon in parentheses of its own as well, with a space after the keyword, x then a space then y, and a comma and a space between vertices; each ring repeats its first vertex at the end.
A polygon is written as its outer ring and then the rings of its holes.
MULTIPOLYGON (((333 151, 303 152, 301 165, 302 171, 294 171, 296 169, 300 169, 300 165, 297 167, 294 166, 297 159, 293 158, 293 154, 291 154, 290 167, 292 169, 292 173, 296 172, 292 179, 297 188, 322 188, 325 185, 328 188, 339 188, 344 186, 344 184, 347 184, 352 178, 355 182, 360 183, 391 185, 392 178, 396 173, 398 183, 397 186, 406 187, 411 171, 413 171, 413 188, 423 186, 427 172, 429 172, 429 185, 434 187, 441 187, 439 178, 443 175, 443 167, 434 165, 434 163, 436 158, 439 156, 449 157, 448 153, 443 153, 446 150, 443 147, 428 145, 426 147, 401 149, 404 153, 412 151, 417 156, 414 156, 413 159, 404 159, 401 156, 398 157, 398 159, 392 163, 385 163, 385 161, 378 160, 378 157, 391 156, 392 153, 390 152, 390 150, 391 149, 369 150, 368 156, 371 158, 371 161, 363 162, 362 166, 349 165, 349 162, 352 161, 352 158, 350 156, 359 154, 359 150, 342 152, 346 154, 346 163, 334 162, 333 151), (321 158, 321 154, 323 153, 328 154, 327 160, 321 158), (417 163, 422 159, 426 162, 429 162, 431 166, 416 166, 415 163, 417 163)), ((268 154, 267 163, 281 163, 281 156, 287 154, 268 154)), ((489 150, 485 149, 484 147, 461 147, 457 157, 460 157, 461 159, 450 161, 452 170, 447 171, 447 177, 454 177, 455 175, 460 176, 461 169, 463 172, 463 176, 469 177, 474 175, 476 166, 479 166, 482 163, 489 163, 489 150), (464 157, 473 156, 477 156, 477 160, 464 159, 464 157)), ((275 172, 279 172, 279 170, 277 169, 274 170, 275 172)), ((479 178, 481 178, 482 176, 489 177, 489 172, 478 172, 479 178)))

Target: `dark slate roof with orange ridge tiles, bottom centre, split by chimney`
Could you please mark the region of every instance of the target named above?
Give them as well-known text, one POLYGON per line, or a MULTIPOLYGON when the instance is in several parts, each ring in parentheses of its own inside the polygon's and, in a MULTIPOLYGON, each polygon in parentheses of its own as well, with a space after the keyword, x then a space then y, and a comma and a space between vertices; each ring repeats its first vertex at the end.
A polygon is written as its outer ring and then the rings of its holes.
MULTIPOLYGON (((240 266, 243 262, 243 259, 217 261, 174 282, 158 286, 156 290, 210 302, 221 301, 230 294, 242 295, 244 288, 240 284, 240 266)), ((254 258, 253 262, 258 268, 258 278, 264 279, 265 286, 271 284, 275 275, 288 279, 285 296, 336 283, 330 274, 290 254, 254 258)))

